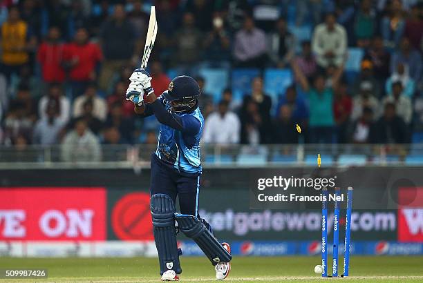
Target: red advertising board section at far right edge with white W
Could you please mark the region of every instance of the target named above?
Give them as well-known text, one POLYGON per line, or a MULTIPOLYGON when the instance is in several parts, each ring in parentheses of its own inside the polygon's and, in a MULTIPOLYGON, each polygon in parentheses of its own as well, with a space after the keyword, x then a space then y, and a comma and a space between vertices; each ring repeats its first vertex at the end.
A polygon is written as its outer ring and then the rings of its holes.
POLYGON ((423 187, 398 191, 398 240, 423 242, 423 187))

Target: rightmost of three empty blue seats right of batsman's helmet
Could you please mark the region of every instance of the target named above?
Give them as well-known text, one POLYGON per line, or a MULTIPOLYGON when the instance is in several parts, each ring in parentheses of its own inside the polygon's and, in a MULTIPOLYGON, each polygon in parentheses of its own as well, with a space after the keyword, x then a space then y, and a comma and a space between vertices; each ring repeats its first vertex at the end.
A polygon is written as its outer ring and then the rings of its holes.
POLYGON ((292 72, 289 69, 266 69, 264 73, 265 92, 272 97, 272 105, 276 106, 278 96, 285 93, 292 84, 292 72))

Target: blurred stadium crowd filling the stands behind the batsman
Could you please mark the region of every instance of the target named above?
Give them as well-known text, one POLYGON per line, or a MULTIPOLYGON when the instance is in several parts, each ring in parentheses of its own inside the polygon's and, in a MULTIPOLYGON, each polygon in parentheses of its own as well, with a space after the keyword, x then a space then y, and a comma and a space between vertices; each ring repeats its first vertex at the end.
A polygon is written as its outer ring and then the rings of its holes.
MULTIPOLYGON (((274 99, 255 77, 236 101, 203 92, 203 140, 218 144, 402 144, 423 130, 423 3, 418 0, 4 0, 0 144, 156 143, 156 119, 124 99, 156 5, 156 93, 200 68, 290 69, 274 99), (292 27, 308 26, 308 39, 292 27), (348 47, 364 50, 354 77, 348 47), (216 103, 217 102, 217 103, 216 103)), ((84 155, 84 153, 80 153, 84 155)))

